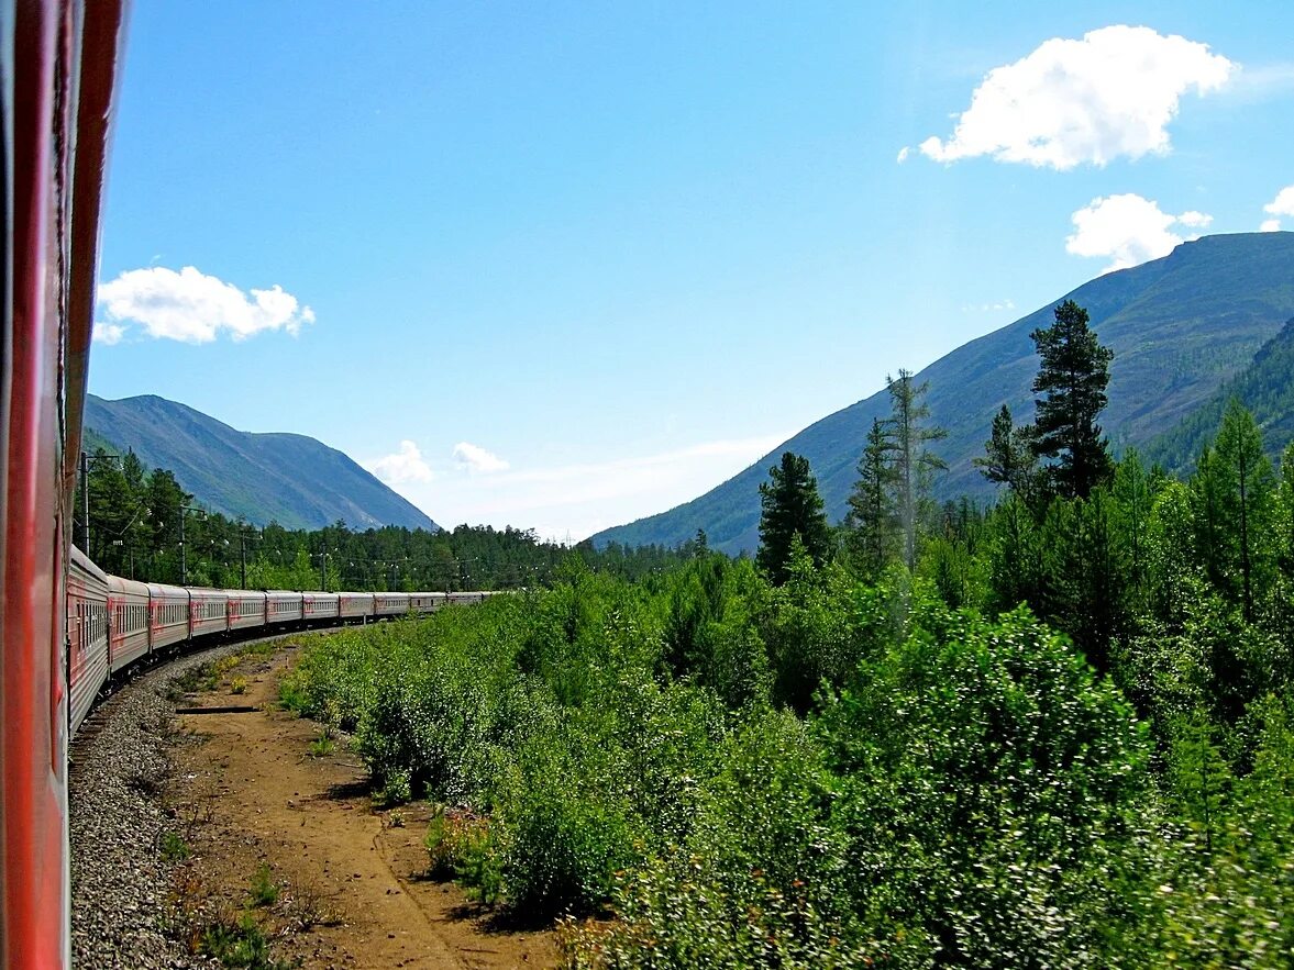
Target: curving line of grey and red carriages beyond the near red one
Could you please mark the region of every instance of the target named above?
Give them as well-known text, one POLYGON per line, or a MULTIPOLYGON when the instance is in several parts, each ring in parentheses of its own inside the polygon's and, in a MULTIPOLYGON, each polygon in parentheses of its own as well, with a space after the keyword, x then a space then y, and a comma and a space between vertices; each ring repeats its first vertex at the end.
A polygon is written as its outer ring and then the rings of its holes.
POLYGON ((480 603, 476 592, 212 590, 110 576, 75 546, 67 570, 67 731, 115 680, 186 648, 480 603))

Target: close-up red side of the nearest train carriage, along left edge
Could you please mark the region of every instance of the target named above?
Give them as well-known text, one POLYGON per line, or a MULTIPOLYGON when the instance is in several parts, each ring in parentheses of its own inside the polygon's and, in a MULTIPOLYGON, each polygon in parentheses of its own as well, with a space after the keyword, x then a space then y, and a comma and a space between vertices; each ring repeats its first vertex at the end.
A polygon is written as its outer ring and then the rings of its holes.
POLYGON ((70 962, 62 582, 122 4, 0 4, 0 966, 41 969, 70 962))

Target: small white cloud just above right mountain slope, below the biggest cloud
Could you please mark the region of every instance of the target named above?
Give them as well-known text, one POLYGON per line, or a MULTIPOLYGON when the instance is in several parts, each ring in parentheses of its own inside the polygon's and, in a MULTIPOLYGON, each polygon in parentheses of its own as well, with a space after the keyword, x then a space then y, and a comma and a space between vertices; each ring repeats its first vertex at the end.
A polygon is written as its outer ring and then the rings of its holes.
POLYGON ((1188 238, 1172 232, 1174 226, 1209 225, 1211 216, 1183 212, 1174 216, 1159 210, 1159 203, 1128 193, 1092 199, 1073 215, 1074 234, 1065 241, 1065 251, 1075 256, 1106 256, 1113 260, 1102 272, 1135 266, 1146 260, 1167 256, 1188 238))

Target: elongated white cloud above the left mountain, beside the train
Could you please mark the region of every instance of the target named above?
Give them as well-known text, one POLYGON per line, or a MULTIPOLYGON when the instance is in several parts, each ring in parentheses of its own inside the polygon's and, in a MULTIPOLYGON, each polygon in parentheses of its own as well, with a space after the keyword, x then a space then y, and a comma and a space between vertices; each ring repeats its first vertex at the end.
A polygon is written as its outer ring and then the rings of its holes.
POLYGON ((179 273, 166 266, 132 269, 98 287, 98 301, 113 323, 140 323, 153 338, 206 344, 221 331, 246 340, 263 330, 286 330, 292 336, 314 312, 278 285, 243 294, 233 283, 206 275, 194 266, 179 273))

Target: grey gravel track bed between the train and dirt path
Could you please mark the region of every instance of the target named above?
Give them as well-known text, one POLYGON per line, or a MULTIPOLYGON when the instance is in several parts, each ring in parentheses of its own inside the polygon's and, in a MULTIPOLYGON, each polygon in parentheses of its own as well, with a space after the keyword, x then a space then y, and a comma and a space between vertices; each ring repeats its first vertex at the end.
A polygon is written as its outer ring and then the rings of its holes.
POLYGON ((173 726, 171 683, 246 644, 202 651, 153 670, 91 713, 71 745, 72 965, 85 970, 217 967, 164 931, 172 865, 162 803, 173 726))

